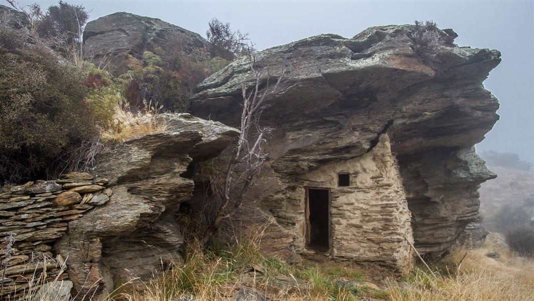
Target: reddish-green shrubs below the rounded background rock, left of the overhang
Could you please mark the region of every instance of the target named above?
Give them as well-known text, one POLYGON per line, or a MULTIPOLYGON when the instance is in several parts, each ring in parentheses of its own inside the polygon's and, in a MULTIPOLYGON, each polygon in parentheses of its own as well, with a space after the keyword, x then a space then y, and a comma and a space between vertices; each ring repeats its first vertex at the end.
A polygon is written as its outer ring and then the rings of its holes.
POLYGON ((198 84, 230 63, 210 57, 206 49, 178 34, 169 36, 166 43, 168 50, 145 51, 141 59, 129 56, 129 71, 120 79, 133 110, 146 101, 162 105, 163 111, 187 112, 198 84))

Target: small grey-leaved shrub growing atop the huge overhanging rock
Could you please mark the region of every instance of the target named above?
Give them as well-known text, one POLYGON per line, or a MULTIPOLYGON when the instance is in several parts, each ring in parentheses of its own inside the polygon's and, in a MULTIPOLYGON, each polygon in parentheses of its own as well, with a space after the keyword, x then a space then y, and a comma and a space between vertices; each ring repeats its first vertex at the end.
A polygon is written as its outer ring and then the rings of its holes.
POLYGON ((439 28, 434 21, 415 21, 413 30, 408 33, 412 39, 412 49, 421 58, 432 61, 441 46, 439 28))

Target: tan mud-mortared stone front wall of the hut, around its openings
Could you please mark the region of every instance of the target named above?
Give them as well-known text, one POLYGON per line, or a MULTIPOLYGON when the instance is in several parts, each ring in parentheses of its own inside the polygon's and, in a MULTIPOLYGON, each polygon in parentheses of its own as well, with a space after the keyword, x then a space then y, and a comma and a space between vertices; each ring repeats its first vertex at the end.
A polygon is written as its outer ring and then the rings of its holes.
POLYGON ((406 273, 413 242, 408 210, 397 161, 387 134, 365 155, 327 164, 299 176, 286 202, 269 211, 280 225, 292 230, 297 253, 320 253, 340 260, 375 262, 406 273), (348 187, 339 187, 339 173, 350 174, 348 187), (318 252, 305 246, 305 188, 331 189, 331 250, 318 252))

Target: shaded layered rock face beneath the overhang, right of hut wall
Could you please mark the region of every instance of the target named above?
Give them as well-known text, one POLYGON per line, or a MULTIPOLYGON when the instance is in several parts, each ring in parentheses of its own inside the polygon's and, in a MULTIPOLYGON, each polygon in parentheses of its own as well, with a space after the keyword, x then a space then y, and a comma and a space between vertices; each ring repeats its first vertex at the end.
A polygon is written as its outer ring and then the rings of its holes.
POLYGON ((475 148, 398 156, 414 238, 422 253, 442 254, 478 220, 478 188, 493 179, 475 148))

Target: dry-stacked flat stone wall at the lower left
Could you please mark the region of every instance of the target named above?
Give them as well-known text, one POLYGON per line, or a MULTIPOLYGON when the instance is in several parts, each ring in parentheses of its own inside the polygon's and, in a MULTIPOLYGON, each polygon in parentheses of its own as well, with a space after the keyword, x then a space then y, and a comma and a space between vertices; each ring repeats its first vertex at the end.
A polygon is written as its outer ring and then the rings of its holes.
POLYGON ((67 223, 103 205, 113 194, 107 179, 73 172, 55 181, 4 186, 0 192, 0 244, 4 271, 2 298, 40 284, 68 278, 65 259, 52 245, 67 223), (11 241, 11 242, 10 242, 11 241), (9 246, 9 248, 8 248, 9 246), (31 281, 36 281, 31 283, 31 281))

